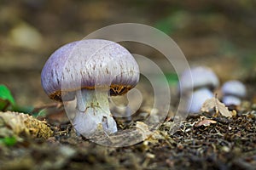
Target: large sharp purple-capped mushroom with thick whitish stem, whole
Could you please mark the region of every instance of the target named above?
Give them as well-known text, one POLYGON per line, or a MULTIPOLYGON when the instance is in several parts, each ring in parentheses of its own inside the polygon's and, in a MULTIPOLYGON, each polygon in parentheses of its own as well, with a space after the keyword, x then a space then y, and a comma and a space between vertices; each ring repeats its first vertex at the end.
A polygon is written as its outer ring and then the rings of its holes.
POLYGON ((117 132, 109 111, 109 95, 121 95, 139 80, 136 60, 116 42, 88 39, 58 48, 47 60, 41 82, 50 99, 76 98, 73 127, 85 137, 117 132))

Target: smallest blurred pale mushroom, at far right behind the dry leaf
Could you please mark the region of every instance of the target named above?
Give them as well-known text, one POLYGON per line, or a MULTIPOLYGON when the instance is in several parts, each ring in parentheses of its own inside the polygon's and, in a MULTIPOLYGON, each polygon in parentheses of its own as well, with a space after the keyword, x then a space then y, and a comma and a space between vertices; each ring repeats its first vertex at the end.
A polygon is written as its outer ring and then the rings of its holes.
POLYGON ((231 80, 225 82, 221 88, 223 94, 222 101, 225 105, 241 105, 241 99, 244 98, 247 94, 247 89, 245 85, 236 80, 231 80))

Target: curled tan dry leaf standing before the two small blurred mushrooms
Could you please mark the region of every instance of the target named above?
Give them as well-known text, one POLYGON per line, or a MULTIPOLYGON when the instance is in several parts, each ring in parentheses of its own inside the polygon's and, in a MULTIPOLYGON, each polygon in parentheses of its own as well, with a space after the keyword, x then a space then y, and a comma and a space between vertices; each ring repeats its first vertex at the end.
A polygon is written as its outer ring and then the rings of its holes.
POLYGON ((217 96, 207 99, 201 106, 201 111, 209 112, 209 110, 213 108, 215 108, 217 114, 220 113, 226 117, 232 116, 231 111, 229 111, 228 108, 218 100, 217 96))

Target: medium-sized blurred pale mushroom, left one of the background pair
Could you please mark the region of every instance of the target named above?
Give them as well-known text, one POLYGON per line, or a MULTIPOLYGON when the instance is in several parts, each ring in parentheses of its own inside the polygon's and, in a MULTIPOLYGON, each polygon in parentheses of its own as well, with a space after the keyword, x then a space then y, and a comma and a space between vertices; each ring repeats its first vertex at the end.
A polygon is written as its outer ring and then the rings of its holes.
POLYGON ((218 87, 218 77, 208 67, 198 66, 190 70, 183 71, 179 82, 179 90, 187 96, 187 111, 198 113, 205 100, 212 98, 212 91, 218 87), (188 81, 192 78, 191 81, 188 81))

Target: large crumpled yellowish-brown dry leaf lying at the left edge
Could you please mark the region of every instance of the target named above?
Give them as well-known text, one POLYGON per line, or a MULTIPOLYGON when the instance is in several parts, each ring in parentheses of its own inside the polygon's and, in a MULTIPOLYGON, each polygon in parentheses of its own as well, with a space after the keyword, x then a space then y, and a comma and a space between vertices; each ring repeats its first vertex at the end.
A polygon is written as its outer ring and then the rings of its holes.
POLYGON ((46 122, 39 121, 32 116, 18 112, 0 112, 0 135, 19 136, 26 134, 33 138, 39 137, 48 139, 53 135, 53 131, 46 122))

